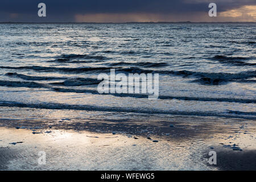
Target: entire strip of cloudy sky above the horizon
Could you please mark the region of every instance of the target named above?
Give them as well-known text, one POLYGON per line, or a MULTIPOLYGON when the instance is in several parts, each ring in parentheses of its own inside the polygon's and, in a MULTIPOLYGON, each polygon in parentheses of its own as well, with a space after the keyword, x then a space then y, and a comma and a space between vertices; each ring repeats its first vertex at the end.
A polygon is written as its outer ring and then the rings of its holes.
POLYGON ((1 0, 0 22, 256 22, 256 0, 1 0), (46 4, 46 17, 38 4, 46 4), (210 17, 209 3, 217 16, 210 17))

